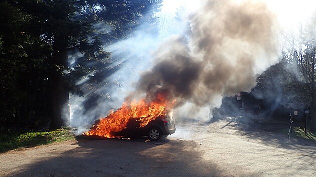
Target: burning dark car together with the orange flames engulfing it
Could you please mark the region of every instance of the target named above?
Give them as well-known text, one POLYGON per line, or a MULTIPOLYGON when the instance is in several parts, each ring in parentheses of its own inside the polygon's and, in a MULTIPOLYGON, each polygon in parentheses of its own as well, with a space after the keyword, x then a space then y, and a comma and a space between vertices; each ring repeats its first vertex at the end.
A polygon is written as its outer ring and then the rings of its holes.
POLYGON ((83 135, 105 138, 146 135, 150 140, 158 140, 176 131, 175 120, 167 113, 172 103, 161 95, 150 102, 145 99, 124 102, 116 111, 98 119, 83 135))

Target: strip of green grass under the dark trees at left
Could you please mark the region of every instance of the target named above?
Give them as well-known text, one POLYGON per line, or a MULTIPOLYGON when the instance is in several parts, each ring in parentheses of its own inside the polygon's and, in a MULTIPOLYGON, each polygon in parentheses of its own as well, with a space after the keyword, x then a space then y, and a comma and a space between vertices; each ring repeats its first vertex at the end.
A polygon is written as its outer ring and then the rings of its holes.
POLYGON ((34 147, 51 142, 61 142, 74 138, 74 134, 70 128, 42 132, 0 134, 0 152, 23 147, 34 147))

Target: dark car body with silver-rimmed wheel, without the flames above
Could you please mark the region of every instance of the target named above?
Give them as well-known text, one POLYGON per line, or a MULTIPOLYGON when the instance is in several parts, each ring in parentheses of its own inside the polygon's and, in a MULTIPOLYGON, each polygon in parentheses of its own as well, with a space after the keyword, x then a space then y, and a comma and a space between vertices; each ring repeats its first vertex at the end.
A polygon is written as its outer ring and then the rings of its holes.
POLYGON ((169 115, 160 115, 152 119, 144 127, 140 126, 140 118, 130 118, 125 129, 115 135, 122 137, 147 136, 149 140, 159 140, 176 131, 175 119, 169 115))

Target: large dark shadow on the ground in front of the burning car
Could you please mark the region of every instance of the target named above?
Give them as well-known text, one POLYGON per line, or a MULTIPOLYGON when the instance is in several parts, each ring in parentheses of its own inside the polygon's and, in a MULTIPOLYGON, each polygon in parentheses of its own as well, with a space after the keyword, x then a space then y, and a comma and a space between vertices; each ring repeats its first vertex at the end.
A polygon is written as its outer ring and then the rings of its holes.
POLYGON ((197 142, 77 139, 79 147, 41 158, 11 176, 219 176, 197 142))

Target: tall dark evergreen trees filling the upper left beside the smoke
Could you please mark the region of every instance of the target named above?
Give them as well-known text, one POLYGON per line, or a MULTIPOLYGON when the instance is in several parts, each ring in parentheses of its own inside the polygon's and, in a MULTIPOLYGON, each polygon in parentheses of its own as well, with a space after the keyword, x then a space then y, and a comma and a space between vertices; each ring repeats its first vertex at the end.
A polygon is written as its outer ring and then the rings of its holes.
POLYGON ((75 81, 88 75, 89 81, 101 82, 108 76, 104 68, 111 63, 111 54, 102 45, 130 35, 147 17, 144 14, 160 2, 0 0, 0 59, 5 63, 0 68, 1 86, 5 88, 1 92, 5 98, 1 102, 3 115, 19 114, 19 119, 25 121, 26 117, 34 117, 37 109, 42 114, 38 117, 51 120, 51 128, 64 125, 62 109, 69 92, 84 95, 84 83, 77 85, 75 81), (96 24, 100 23, 111 32, 99 31, 96 24), (79 52, 80 57, 68 67, 71 52, 79 52), (17 99, 10 102, 15 96, 17 99))

